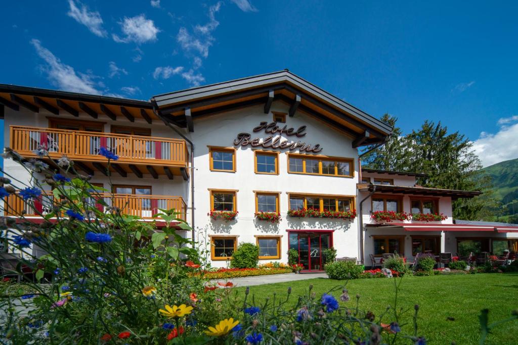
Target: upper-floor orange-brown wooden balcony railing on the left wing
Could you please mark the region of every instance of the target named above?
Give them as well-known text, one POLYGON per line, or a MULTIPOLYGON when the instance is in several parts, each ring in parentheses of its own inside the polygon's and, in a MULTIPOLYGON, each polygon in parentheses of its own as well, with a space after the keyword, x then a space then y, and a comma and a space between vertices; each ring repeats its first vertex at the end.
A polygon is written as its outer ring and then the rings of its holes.
POLYGON ((185 141, 179 139, 10 126, 10 147, 20 155, 36 157, 33 151, 38 145, 47 147, 53 159, 67 155, 73 160, 106 161, 99 155, 100 148, 106 147, 119 156, 120 163, 186 167, 189 161, 185 141))

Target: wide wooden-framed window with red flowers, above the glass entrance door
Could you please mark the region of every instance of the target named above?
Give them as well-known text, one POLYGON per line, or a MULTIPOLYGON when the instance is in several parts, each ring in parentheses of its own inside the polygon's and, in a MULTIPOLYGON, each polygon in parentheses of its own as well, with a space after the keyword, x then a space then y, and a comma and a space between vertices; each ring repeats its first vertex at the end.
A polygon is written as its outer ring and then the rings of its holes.
POLYGON ((303 208, 314 208, 319 211, 340 211, 346 212, 354 209, 353 196, 318 196, 313 194, 289 193, 290 209, 299 210, 303 208))

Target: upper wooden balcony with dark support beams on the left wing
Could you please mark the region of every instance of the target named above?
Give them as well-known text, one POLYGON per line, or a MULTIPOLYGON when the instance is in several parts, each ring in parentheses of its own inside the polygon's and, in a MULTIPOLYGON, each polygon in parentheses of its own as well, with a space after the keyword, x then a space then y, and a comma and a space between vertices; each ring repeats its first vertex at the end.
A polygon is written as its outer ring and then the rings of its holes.
POLYGON ((101 147, 119 156, 110 170, 123 177, 151 174, 153 178, 174 175, 188 179, 189 153, 184 140, 128 136, 104 132, 74 131, 55 128, 10 126, 10 147, 23 157, 37 157, 38 145, 47 147, 51 159, 66 155, 78 162, 76 169, 93 175, 97 170, 106 175, 107 159, 99 155, 101 147))

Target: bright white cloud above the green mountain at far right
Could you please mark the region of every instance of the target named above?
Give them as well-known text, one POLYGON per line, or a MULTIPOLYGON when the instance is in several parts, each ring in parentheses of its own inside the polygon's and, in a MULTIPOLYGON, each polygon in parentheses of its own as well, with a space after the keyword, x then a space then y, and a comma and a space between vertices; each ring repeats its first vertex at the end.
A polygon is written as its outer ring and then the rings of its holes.
POLYGON ((479 156, 484 167, 501 161, 518 158, 518 116, 500 118, 497 133, 480 133, 473 142, 474 152, 479 156))

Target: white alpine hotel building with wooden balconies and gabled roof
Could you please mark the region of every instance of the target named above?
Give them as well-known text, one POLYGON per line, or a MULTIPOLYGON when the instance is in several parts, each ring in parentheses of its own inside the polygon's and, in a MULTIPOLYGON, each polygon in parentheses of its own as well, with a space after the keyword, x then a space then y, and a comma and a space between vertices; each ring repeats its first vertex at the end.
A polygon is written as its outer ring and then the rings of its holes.
MULTIPOLYGON (((321 271, 329 247, 370 266, 371 254, 456 253, 462 241, 492 251, 493 243, 512 247, 518 237, 518 228, 453 224, 452 199, 478 192, 419 187, 419 174, 362 172, 358 147, 384 143, 392 128, 287 70, 150 101, 0 85, 0 115, 5 147, 26 158, 38 144, 52 159, 66 154, 93 183, 112 189, 106 198, 123 212, 149 221, 156 208, 181 210, 194 227, 185 236, 210 244, 213 266, 226 266, 246 242, 260 247, 262 262, 287 262, 294 248, 307 271, 321 271), (98 155, 103 146, 120 156, 110 168, 112 187, 98 155), (300 208, 357 216, 288 215, 300 208), (209 216, 222 210, 238 213, 228 221, 209 216), (371 219, 372 210, 448 218, 384 223, 371 219), (262 211, 281 220, 257 219, 262 211)), ((28 179, 10 160, 4 169, 28 179)), ((45 200, 26 217, 38 222, 45 200)), ((23 207, 16 198, 7 202, 23 207)))

